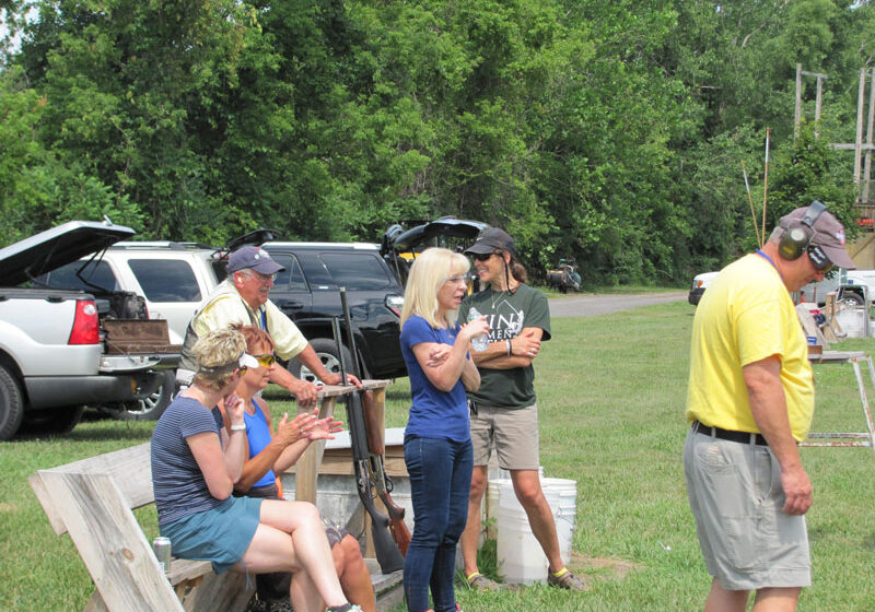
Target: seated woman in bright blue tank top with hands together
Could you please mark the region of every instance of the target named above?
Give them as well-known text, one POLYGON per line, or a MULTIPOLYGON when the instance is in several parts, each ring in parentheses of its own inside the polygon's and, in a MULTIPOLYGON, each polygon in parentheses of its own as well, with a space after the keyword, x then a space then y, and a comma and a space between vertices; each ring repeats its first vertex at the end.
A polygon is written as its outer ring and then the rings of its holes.
MULTIPOLYGON (((291 420, 284 414, 275 434, 270 408, 259 397, 277 367, 273 341, 266 331, 254 326, 235 325, 232 329, 243 333, 246 352, 258 362, 257 367, 246 370, 236 388, 236 395, 244 402, 248 459, 243 464, 241 479, 234 485, 234 495, 281 499, 277 474, 293 466, 312 442, 332 438, 331 434, 339 432, 342 424, 332 417, 317 419, 317 408, 312 413, 302 413, 291 420)), ((331 525, 326 526, 325 531, 343 593, 351 602, 361 605, 364 612, 375 612, 371 574, 358 540, 331 525)), ((256 597, 266 602, 268 609, 282 610, 276 602, 289 600, 290 580, 288 573, 259 575, 256 577, 256 597)))

